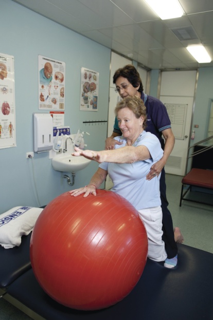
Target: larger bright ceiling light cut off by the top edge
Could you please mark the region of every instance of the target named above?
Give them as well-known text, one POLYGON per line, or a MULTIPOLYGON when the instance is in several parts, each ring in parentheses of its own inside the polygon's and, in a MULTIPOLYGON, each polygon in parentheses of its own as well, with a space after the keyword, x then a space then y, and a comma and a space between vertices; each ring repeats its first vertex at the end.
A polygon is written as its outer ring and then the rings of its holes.
POLYGON ((145 0, 162 20, 179 18, 184 11, 178 0, 145 0))

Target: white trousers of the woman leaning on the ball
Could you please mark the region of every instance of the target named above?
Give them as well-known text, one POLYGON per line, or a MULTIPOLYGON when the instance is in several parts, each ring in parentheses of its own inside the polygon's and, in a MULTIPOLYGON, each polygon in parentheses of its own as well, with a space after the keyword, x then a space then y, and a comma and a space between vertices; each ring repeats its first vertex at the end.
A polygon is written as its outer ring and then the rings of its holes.
POLYGON ((161 206, 138 210, 144 222, 148 236, 148 258, 154 261, 165 261, 167 253, 162 240, 162 209, 161 206))

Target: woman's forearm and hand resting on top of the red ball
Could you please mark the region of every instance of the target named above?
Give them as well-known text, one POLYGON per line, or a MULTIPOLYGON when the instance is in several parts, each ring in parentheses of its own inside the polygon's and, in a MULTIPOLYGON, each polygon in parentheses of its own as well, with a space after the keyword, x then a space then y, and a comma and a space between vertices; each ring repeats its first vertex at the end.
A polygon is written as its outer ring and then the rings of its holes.
POLYGON ((87 197, 88 195, 92 194, 96 196, 96 189, 101 185, 101 183, 107 178, 107 171, 98 168, 96 173, 93 175, 90 183, 88 185, 83 186, 82 188, 75 189, 69 191, 71 196, 77 197, 84 193, 83 197, 87 197))

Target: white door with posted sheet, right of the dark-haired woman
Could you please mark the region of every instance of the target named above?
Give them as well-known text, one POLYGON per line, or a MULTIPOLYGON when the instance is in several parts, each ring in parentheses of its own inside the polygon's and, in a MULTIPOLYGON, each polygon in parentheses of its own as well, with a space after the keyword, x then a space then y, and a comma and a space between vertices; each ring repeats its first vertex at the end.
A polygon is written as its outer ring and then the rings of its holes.
POLYGON ((163 71, 159 99, 165 104, 175 136, 165 171, 185 175, 197 70, 163 71))

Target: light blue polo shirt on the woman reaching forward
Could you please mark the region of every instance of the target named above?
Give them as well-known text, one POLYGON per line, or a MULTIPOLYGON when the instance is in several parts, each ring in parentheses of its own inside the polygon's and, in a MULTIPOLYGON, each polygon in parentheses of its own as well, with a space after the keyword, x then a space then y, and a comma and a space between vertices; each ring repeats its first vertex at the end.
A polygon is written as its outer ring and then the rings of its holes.
MULTIPOLYGON (((123 142, 122 145, 115 145, 115 148, 126 146, 126 139, 122 136, 114 139, 123 142)), ((103 162, 99 167, 108 171, 114 186, 111 191, 126 198, 137 209, 152 208, 161 205, 159 192, 159 178, 154 177, 150 181, 146 179, 153 163, 163 157, 163 150, 158 138, 146 131, 140 134, 134 146, 145 145, 150 152, 151 159, 137 161, 134 163, 110 163, 103 162)))

